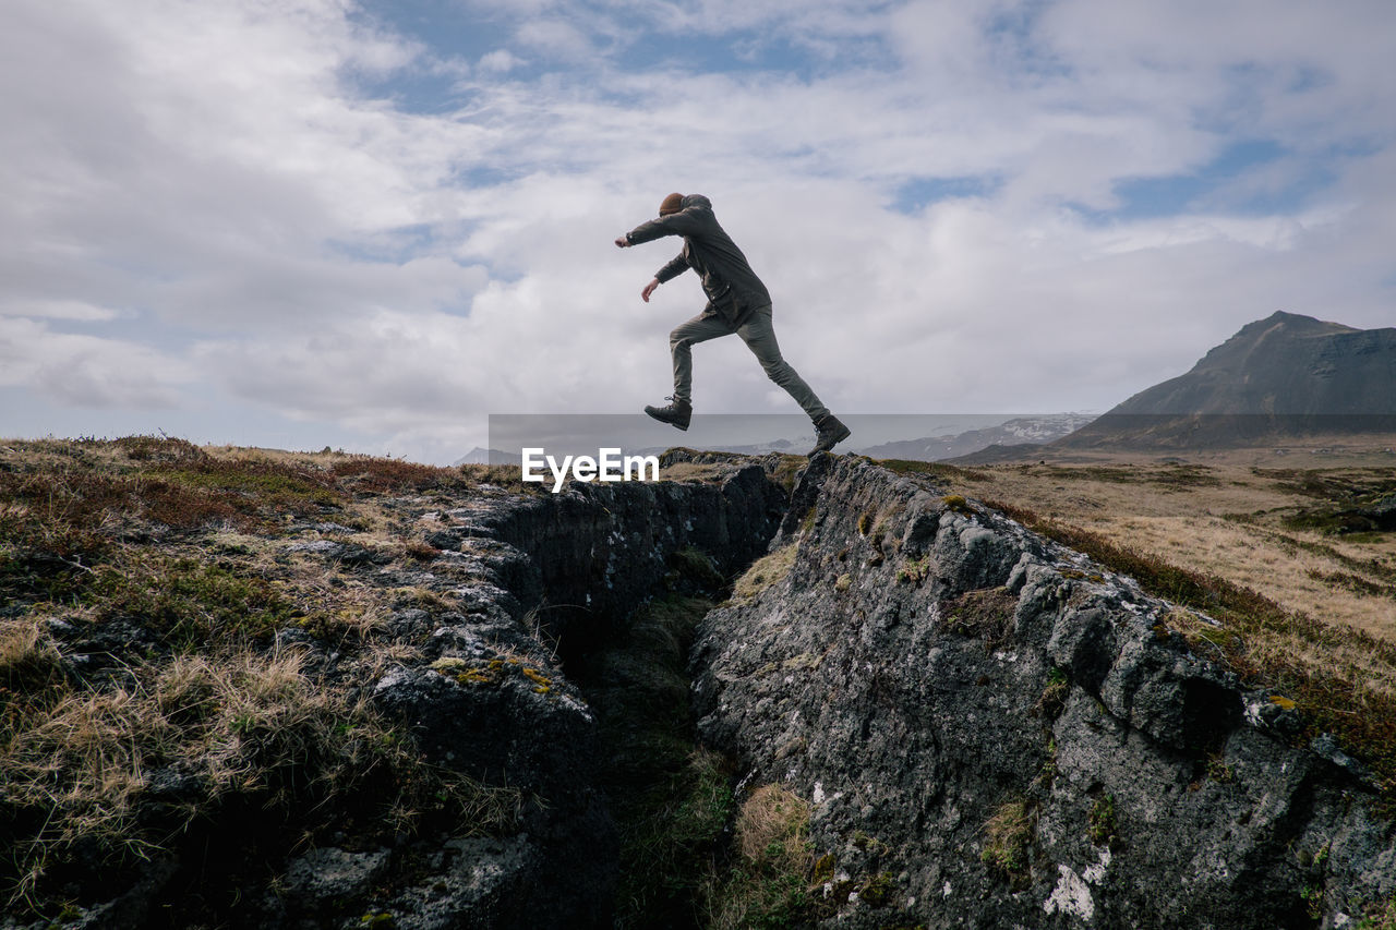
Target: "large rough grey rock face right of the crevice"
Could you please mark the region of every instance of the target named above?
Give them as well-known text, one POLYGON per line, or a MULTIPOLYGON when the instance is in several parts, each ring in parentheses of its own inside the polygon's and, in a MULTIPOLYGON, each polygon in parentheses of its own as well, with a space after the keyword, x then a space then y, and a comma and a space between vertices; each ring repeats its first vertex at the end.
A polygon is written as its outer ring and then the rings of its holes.
POLYGON ((1160 634, 1171 605, 866 461, 794 500, 793 568, 692 672, 744 783, 812 802, 822 926, 1340 927, 1396 892, 1361 767, 1160 634))

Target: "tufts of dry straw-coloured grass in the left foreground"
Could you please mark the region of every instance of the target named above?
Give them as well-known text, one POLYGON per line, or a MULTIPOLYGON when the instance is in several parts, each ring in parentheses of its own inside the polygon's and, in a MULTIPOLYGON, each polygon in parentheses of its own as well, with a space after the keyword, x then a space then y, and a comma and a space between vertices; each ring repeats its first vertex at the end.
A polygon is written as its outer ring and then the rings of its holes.
POLYGON ((309 677, 303 652, 188 655, 130 672, 126 687, 50 687, 11 708, 4 806, 34 824, 13 838, 13 905, 42 898, 47 873, 71 870, 74 856, 121 867, 174 855, 188 820, 216 821, 229 797, 279 811, 292 839, 353 821, 413 831, 433 811, 482 831, 518 815, 518 792, 426 765, 362 698, 309 677), (161 815, 151 779, 172 765, 187 788, 161 815))

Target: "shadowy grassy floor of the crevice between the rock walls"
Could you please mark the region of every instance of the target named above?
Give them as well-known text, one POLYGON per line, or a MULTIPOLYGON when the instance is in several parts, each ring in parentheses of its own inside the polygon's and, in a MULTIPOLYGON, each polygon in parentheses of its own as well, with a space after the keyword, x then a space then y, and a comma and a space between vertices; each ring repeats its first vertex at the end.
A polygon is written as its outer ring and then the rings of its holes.
MULTIPOLYGON (((783 575, 793 553, 773 553, 773 571, 783 575)), ((811 888, 832 877, 832 857, 822 860, 828 876, 815 877, 807 802, 766 785, 738 809, 730 762, 695 746, 685 658, 711 606, 658 598, 572 665, 609 760, 603 785, 621 834, 617 927, 807 926, 811 888)), ((859 891, 845 884, 839 902, 859 891)), ((888 888, 886 878, 868 883, 872 896, 888 888)))

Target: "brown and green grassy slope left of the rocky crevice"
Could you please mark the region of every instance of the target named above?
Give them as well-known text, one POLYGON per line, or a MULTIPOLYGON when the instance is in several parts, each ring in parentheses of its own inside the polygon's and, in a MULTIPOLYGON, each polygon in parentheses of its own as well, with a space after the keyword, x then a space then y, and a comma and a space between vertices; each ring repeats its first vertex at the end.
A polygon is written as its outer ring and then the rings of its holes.
MULTIPOLYGON (((0 448, 4 909, 61 917, 149 860, 230 871, 236 895, 244 863, 329 831, 507 827, 517 792, 427 765, 357 687, 412 649, 381 634, 392 610, 450 605, 288 549, 332 536, 415 564, 434 550, 398 496, 484 478, 508 480, 152 437, 0 448)), ((232 906, 186 894, 191 915, 232 906)))

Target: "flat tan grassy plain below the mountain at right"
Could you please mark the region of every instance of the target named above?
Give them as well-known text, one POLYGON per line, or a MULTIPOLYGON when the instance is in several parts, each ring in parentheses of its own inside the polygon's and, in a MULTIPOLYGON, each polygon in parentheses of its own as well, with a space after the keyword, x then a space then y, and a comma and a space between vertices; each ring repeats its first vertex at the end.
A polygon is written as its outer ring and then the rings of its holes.
POLYGON ((1396 494, 1396 455, 1244 458, 994 465, 953 483, 1396 641, 1396 532, 1368 515, 1396 494))

